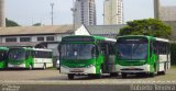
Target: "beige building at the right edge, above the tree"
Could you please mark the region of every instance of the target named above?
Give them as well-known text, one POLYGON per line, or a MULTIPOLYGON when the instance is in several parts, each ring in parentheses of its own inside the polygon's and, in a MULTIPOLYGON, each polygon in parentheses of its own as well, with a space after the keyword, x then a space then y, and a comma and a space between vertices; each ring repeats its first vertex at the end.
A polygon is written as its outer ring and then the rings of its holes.
POLYGON ((160 20, 176 21, 176 7, 161 7, 160 20))

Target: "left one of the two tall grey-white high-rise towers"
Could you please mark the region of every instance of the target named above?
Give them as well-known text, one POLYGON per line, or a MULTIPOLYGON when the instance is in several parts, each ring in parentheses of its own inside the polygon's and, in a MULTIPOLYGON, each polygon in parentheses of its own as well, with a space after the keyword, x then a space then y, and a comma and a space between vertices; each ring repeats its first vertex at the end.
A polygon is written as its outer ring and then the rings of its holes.
POLYGON ((76 0, 74 9, 74 24, 96 25, 95 0, 76 0))

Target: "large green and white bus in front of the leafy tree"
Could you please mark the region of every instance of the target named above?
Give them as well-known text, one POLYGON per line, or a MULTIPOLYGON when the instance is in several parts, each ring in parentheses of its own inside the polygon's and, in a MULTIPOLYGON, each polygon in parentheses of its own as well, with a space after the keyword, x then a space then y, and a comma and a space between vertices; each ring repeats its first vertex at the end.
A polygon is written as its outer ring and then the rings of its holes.
POLYGON ((170 67, 169 41, 144 35, 119 36, 117 39, 118 71, 154 77, 170 67))

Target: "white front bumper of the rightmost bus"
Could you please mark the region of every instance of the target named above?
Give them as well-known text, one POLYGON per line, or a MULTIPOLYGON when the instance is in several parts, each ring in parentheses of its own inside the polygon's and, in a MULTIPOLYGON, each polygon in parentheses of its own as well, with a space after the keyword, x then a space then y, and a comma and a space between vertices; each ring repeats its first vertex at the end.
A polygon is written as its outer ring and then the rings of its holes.
POLYGON ((143 66, 117 66, 119 72, 127 72, 127 73, 138 73, 138 72, 150 72, 150 65, 143 66))

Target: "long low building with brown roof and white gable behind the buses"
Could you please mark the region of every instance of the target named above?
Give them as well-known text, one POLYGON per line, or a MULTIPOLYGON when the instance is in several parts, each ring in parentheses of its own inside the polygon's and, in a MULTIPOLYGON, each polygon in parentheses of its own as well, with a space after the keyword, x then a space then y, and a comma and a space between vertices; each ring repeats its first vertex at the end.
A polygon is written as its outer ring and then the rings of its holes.
POLYGON ((82 29, 85 29, 84 25, 77 30, 73 30, 73 25, 0 27, 0 46, 35 47, 37 44, 47 43, 47 46, 43 45, 43 47, 57 53, 57 46, 63 36, 90 35, 82 29))

